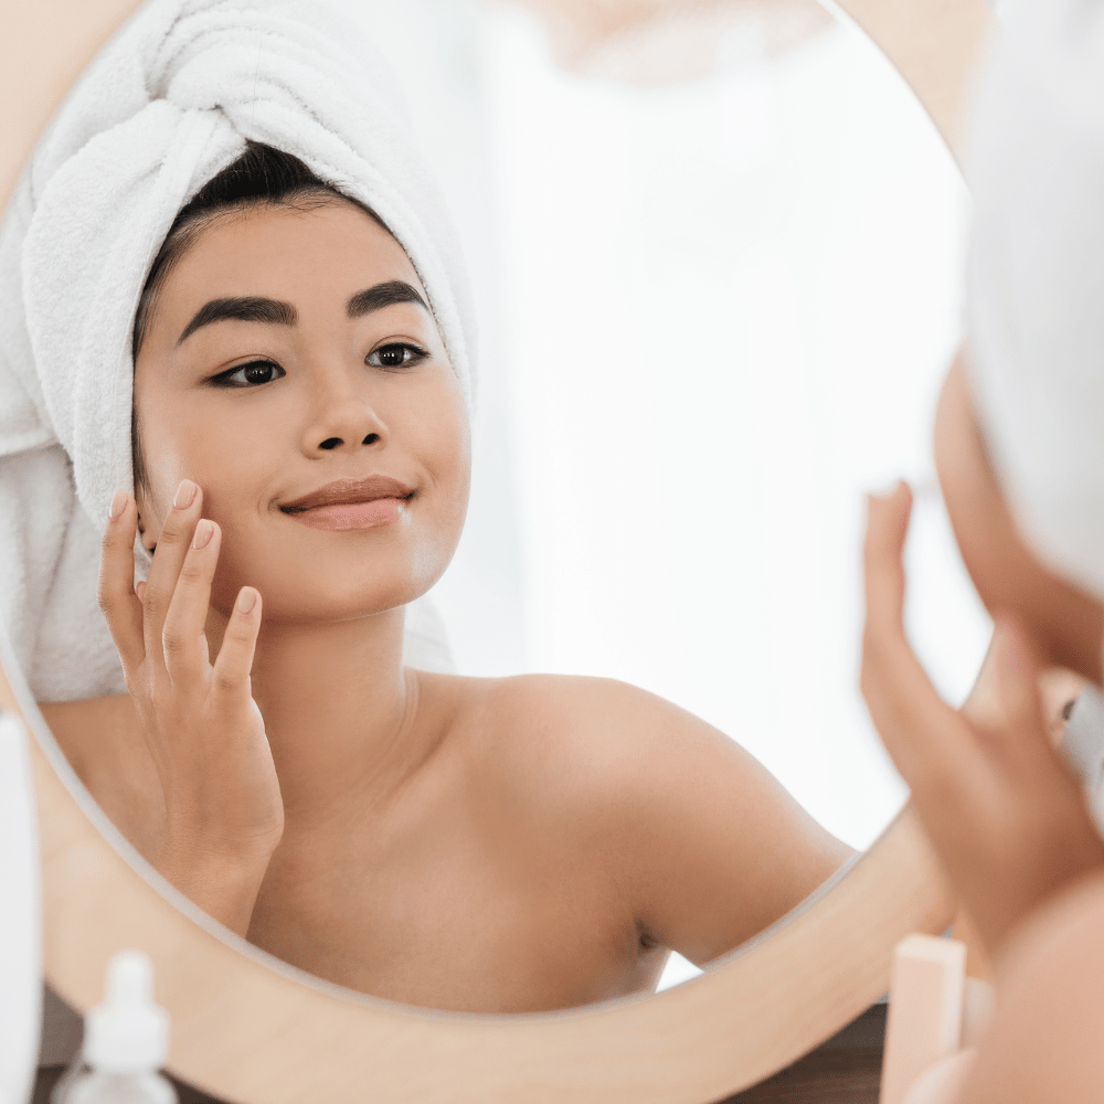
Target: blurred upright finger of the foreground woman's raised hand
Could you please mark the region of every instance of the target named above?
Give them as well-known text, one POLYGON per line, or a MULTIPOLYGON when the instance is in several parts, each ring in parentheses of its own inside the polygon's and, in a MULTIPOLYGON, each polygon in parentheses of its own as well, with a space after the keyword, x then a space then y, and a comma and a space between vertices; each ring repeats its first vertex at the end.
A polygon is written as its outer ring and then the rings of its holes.
POLYGON ((905 636, 902 555, 911 505, 904 484, 885 498, 868 499, 861 688, 885 750, 922 795, 972 777, 977 749, 969 726, 940 698, 905 636))

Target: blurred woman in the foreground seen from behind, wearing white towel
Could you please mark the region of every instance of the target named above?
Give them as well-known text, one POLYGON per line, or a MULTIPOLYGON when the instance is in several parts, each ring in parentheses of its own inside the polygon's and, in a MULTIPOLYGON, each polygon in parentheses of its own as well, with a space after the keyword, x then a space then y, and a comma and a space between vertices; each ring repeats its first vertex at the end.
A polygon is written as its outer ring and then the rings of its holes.
POLYGON ((1036 679, 1062 665, 1104 686, 1104 7, 1027 0, 1001 17, 967 173, 970 347, 934 440, 999 626, 995 708, 956 714, 910 648, 903 486, 870 502, 863 692, 994 958, 992 1022, 946 1100, 1049 1104, 1104 1097, 1104 840, 1036 679))

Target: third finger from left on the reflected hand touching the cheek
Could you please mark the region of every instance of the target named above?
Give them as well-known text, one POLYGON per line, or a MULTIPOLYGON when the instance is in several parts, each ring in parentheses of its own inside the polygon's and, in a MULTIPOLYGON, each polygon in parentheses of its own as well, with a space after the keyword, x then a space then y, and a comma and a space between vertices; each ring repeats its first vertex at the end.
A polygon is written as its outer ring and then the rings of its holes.
POLYGON ((201 518, 164 617, 161 629, 164 668, 169 680, 178 687, 203 681, 209 670, 205 628, 221 540, 220 528, 210 519, 201 518))

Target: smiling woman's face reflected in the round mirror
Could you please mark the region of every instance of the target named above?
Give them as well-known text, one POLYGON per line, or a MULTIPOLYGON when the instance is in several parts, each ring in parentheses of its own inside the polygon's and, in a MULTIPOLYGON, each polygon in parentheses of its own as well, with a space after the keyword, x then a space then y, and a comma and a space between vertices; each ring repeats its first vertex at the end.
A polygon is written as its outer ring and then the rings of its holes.
POLYGON ((215 608, 248 584, 267 622, 347 619, 428 590, 464 524, 470 440, 426 302, 352 203, 204 229, 135 363, 146 546, 188 478, 223 531, 215 608))

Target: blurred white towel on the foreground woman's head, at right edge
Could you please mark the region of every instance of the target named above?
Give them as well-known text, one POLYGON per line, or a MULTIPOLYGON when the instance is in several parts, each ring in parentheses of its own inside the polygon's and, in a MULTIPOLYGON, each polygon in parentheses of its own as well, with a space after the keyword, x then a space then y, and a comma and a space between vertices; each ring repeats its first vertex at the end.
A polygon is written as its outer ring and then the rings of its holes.
POLYGON ((1104 2, 1000 19, 966 172, 970 383, 1025 537, 1104 596, 1104 2))

